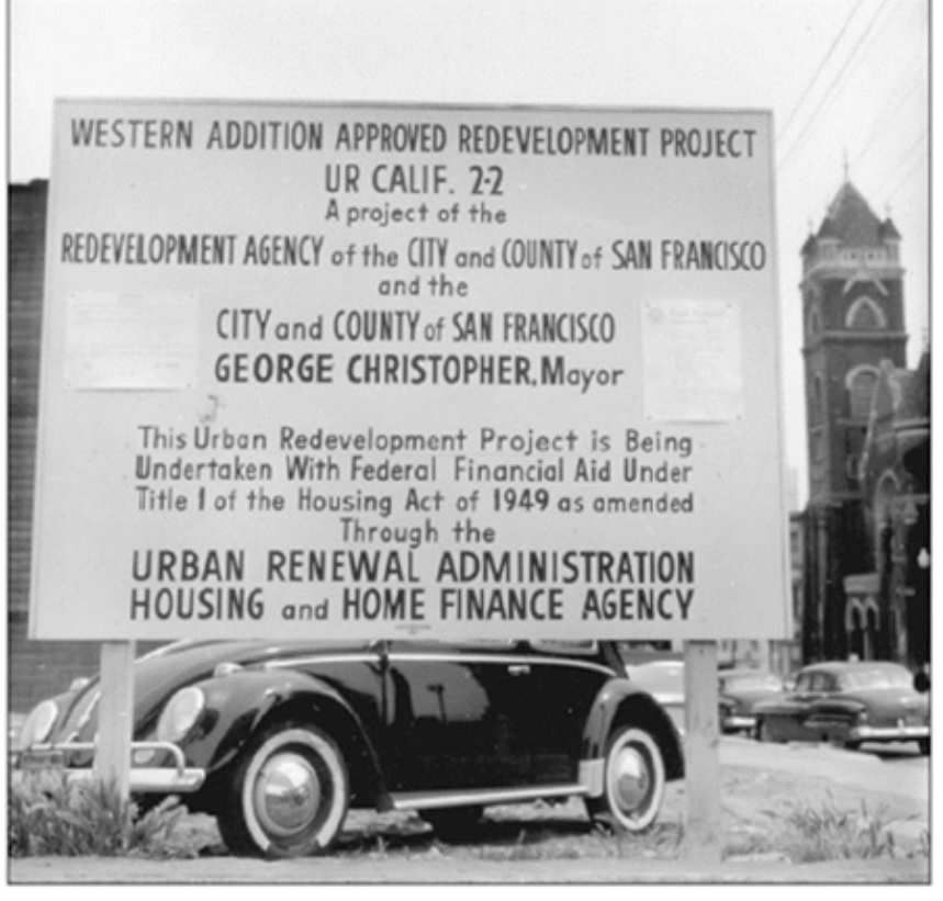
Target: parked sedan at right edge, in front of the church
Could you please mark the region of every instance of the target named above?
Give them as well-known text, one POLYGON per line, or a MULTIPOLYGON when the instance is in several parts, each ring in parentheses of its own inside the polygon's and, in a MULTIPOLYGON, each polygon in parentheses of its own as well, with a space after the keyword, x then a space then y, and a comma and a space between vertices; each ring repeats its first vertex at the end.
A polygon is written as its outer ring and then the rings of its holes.
POLYGON ((930 753, 930 703, 896 663, 818 663, 799 672, 794 691, 754 708, 761 741, 914 741, 930 753))

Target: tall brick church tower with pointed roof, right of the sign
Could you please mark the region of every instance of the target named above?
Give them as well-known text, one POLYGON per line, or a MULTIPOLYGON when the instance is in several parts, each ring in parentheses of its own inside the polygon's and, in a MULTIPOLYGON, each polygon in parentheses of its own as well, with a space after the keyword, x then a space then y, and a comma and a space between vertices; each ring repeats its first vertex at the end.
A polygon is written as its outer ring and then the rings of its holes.
POLYGON ((843 579, 871 568, 858 464, 882 362, 906 365, 899 246, 894 223, 878 219, 845 180, 801 249, 809 460, 802 657, 808 662, 847 656, 843 579))

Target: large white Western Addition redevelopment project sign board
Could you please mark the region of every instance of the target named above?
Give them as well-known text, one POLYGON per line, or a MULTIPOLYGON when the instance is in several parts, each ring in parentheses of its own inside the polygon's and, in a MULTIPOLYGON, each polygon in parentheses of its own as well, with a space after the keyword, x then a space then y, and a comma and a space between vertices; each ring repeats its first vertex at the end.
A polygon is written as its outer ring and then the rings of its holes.
POLYGON ((771 142, 59 102, 33 637, 786 637, 771 142))

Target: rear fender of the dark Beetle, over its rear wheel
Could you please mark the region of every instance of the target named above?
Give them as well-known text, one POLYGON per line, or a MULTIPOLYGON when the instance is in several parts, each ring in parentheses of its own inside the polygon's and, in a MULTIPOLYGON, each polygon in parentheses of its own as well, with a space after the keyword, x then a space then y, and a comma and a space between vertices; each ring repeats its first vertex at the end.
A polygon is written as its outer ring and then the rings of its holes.
POLYGON ((637 688, 628 679, 610 679, 596 695, 583 730, 583 759, 605 756, 606 742, 613 729, 627 720, 647 727, 652 733, 664 756, 669 779, 684 776, 681 735, 671 717, 648 691, 637 688))

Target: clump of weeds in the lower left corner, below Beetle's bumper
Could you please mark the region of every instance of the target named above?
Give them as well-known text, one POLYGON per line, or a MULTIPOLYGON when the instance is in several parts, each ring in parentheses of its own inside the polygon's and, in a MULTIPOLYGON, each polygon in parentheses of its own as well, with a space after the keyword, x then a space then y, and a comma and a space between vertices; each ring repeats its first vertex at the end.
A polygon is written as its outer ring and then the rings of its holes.
POLYGON ((10 786, 7 852, 14 857, 193 857, 176 840, 186 808, 168 800, 142 814, 114 785, 69 784, 65 774, 37 770, 10 786))

